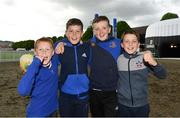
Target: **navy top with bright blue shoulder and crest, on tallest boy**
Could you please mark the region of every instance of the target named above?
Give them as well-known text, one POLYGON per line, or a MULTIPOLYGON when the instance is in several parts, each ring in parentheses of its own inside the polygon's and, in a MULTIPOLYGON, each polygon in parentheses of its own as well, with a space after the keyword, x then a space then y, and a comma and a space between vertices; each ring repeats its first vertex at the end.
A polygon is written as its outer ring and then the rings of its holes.
POLYGON ((90 40, 92 48, 91 89, 114 91, 117 89, 117 58, 121 54, 121 40, 109 37, 105 41, 95 36, 90 40))

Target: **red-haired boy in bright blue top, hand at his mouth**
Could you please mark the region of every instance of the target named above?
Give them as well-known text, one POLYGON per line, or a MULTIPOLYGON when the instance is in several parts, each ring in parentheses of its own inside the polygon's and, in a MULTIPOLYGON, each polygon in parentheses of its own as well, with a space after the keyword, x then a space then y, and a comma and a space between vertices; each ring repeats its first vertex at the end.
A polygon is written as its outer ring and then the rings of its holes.
POLYGON ((40 38, 35 43, 35 57, 20 80, 18 92, 30 96, 27 117, 55 116, 58 109, 58 62, 53 56, 53 42, 40 38))

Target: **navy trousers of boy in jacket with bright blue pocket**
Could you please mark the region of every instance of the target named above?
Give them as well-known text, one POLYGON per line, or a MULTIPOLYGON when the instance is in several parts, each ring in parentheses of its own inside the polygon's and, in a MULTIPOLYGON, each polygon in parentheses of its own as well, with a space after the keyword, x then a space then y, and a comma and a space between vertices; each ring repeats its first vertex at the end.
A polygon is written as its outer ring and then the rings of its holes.
POLYGON ((60 93, 60 116, 61 117, 88 117, 88 93, 70 95, 60 93))

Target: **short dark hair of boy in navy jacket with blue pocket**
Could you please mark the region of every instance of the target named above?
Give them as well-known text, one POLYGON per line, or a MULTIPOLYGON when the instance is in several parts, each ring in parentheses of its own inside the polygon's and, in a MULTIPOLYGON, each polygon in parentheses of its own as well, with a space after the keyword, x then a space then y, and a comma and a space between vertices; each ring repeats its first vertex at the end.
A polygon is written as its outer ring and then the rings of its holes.
POLYGON ((81 30, 83 31, 83 23, 80 19, 77 19, 77 18, 69 19, 68 22, 66 23, 66 30, 68 29, 69 26, 72 26, 72 25, 81 26, 81 30))

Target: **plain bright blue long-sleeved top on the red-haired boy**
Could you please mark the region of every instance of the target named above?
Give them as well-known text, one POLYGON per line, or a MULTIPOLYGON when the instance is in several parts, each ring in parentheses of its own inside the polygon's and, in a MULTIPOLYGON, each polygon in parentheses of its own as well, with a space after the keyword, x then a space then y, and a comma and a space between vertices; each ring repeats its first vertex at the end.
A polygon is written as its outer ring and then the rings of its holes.
POLYGON ((58 62, 54 56, 50 68, 43 67, 41 61, 34 57, 27 72, 18 85, 21 96, 30 96, 26 115, 44 117, 58 109, 58 62))

